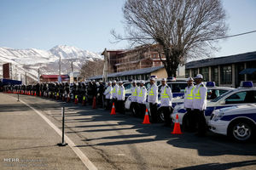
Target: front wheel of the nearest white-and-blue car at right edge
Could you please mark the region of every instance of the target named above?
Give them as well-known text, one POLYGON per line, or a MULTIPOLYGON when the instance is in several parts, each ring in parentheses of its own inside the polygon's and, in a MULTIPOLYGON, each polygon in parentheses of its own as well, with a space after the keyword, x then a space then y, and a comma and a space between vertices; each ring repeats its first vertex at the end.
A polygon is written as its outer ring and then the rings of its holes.
POLYGON ((230 125, 229 135, 237 141, 247 141, 253 136, 253 125, 250 122, 234 122, 230 125))

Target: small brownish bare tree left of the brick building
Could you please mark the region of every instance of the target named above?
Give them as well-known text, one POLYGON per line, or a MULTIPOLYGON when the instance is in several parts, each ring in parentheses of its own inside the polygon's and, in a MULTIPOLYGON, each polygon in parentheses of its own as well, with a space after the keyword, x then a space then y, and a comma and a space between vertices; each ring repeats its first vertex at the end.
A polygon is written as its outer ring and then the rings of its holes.
POLYGON ((87 61, 80 70, 80 76, 83 78, 102 75, 104 60, 96 59, 95 61, 87 61))

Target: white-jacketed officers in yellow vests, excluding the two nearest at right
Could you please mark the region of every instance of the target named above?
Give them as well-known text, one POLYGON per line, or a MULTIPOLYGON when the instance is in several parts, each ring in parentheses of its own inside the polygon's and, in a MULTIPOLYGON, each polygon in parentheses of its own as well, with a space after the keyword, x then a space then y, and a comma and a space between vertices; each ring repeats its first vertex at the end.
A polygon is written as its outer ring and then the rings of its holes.
MULTIPOLYGON (((166 126, 171 126, 171 113, 172 113, 172 89, 166 84, 166 78, 161 80, 162 87, 160 89, 160 104, 161 110, 164 113, 166 126)), ((137 81, 132 82, 131 88, 131 111, 135 116, 144 116, 146 112, 146 100, 148 96, 148 103, 150 107, 151 122, 158 122, 157 104, 158 104, 158 87, 155 84, 154 77, 150 78, 150 88, 144 86, 145 82, 141 81, 140 86, 137 86, 137 81)), ((117 111, 125 113, 125 88, 123 82, 119 85, 115 81, 108 82, 108 88, 105 90, 104 95, 107 99, 108 109, 111 107, 111 102, 116 106, 117 111)))

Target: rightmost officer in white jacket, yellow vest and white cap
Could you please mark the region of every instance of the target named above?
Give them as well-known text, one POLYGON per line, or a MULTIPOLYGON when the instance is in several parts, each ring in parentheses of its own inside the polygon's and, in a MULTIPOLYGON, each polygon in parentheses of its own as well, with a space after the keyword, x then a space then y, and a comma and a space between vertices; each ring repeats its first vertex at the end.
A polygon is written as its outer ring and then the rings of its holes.
POLYGON ((198 136, 204 136, 207 133, 207 122, 205 111, 207 109, 207 88, 202 83, 203 76, 201 74, 194 77, 195 88, 193 90, 193 109, 198 124, 198 136))

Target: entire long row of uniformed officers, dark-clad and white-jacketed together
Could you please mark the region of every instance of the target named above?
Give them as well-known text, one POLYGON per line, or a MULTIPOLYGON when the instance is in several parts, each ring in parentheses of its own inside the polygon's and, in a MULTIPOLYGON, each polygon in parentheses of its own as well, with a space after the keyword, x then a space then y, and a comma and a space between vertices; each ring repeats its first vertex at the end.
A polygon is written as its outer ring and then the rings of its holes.
MULTIPOLYGON (((202 83, 203 77, 198 74, 194 79, 189 77, 188 87, 184 91, 184 108, 188 119, 188 130, 198 129, 198 135, 204 135, 207 131, 207 124, 204 111, 207 108, 207 88, 202 83), (195 81, 195 85, 194 85, 195 81)), ((150 88, 145 88, 144 81, 132 82, 131 88, 131 110, 135 116, 144 116, 146 112, 146 100, 148 99, 151 122, 158 122, 158 100, 160 93, 160 109, 165 116, 165 126, 171 126, 172 89, 167 85, 166 78, 161 79, 160 91, 155 83, 154 77, 150 78, 150 88)), ((113 105, 117 112, 125 114, 125 88, 123 82, 79 82, 70 86, 66 83, 41 83, 36 85, 18 85, 4 87, 6 92, 16 91, 20 94, 32 94, 44 98, 57 99, 67 102, 83 103, 93 105, 96 100, 97 107, 110 110, 113 105)))

